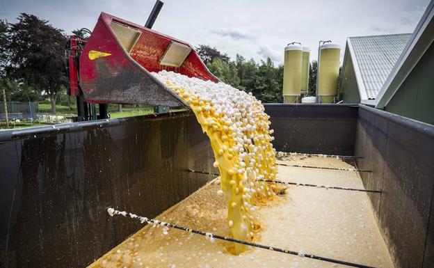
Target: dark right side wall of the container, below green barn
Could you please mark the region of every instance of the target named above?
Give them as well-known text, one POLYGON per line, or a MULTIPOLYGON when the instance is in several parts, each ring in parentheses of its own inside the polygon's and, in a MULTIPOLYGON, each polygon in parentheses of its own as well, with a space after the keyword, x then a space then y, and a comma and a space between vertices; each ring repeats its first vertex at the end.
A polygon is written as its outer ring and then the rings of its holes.
POLYGON ((433 267, 434 126, 361 105, 355 155, 396 267, 433 267))

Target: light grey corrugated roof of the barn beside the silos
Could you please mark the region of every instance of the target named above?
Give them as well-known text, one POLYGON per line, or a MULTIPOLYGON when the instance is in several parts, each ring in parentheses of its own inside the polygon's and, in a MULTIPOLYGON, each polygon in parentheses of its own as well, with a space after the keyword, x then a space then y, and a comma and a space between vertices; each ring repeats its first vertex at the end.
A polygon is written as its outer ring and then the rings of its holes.
POLYGON ((410 36, 402 33, 349 38, 369 100, 380 92, 410 36))

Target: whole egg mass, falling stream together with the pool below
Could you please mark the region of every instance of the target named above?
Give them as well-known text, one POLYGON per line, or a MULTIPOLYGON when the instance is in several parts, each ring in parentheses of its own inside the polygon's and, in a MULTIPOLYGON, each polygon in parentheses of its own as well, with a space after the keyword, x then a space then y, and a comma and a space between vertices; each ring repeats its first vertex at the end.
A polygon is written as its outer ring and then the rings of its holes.
POLYGON ((289 193, 285 193, 286 188, 281 184, 262 181, 275 180, 278 171, 279 180, 301 180, 300 183, 311 183, 324 174, 331 174, 325 176, 327 184, 335 182, 336 186, 362 188, 355 172, 278 167, 276 163, 338 168, 352 168, 351 165, 341 159, 303 158, 303 155, 284 153, 276 159, 271 144, 270 117, 250 93, 175 72, 152 74, 191 107, 209 137, 215 156, 214 167, 220 174, 156 219, 215 235, 300 251, 302 255, 252 249, 214 239, 212 235, 204 237, 147 224, 90 267, 339 267, 302 258, 303 252, 340 259, 348 259, 349 254, 352 259, 348 261, 393 267, 365 193, 343 192, 328 200, 332 190, 291 187, 289 193), (321 201, 321 198, 328 201, 321 201), (351 210, 351 205, 357 206, 357 211, 351 210), (361 212, 360 206, 363 207, 361 212), (348 211, 339 214, 345 207, 348 211), (355 217, 359 212, 363 219, 355 217), (362 237, 364 232, 370 234, 366 239, 362 237), (355 237, 357 243, 352 240, 355 237), (364 251, 364 246, 366 249, 371 246, 371 249, 364 251))

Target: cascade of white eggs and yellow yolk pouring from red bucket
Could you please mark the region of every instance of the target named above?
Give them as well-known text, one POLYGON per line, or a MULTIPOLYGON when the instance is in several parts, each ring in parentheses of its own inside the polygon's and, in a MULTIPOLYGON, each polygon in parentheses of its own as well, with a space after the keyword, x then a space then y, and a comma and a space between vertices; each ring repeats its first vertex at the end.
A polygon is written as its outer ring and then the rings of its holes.
MULTIPOLYGON (((220 171, 221 190, 227 200, 227 225, 235 239, 252 241, 259 230, 255 205, 278 191, 265 182, 274 180, 275 149, 271 122, 264 106, 251 93, 224 83, 189 78, 165 70, 152 73, 184 99, 195 113, 202 131, 211 141, 220 171)), ((246 246, 233 244, 227 249, 239 254, 246 246)))

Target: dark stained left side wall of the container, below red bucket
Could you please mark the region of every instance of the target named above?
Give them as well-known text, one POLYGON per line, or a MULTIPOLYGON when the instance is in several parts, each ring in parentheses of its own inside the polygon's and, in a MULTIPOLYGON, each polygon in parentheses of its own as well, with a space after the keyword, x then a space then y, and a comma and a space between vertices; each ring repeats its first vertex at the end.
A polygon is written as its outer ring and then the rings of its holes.
POLYGON ((211 180, 193 113, 0 132, 1 267, 86 267, 211 180))

